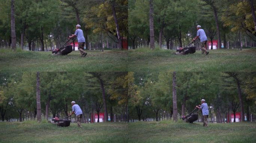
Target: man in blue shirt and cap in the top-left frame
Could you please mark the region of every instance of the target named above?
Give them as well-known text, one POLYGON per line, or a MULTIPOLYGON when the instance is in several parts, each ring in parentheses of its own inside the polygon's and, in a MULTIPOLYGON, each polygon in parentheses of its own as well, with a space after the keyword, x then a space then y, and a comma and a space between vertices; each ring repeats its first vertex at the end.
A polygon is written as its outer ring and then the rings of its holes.
POLYGON ((87 53, 83 50, 85 48, 85 37, 83 36, 83 31, 80 29, 81 26, 79 24, 76 25, 76 32, 72 34, 71 36, 68 36, 68 38, 77 37, 78 41, 78 50, 81 53, 81 57, 85 57, 87 53))

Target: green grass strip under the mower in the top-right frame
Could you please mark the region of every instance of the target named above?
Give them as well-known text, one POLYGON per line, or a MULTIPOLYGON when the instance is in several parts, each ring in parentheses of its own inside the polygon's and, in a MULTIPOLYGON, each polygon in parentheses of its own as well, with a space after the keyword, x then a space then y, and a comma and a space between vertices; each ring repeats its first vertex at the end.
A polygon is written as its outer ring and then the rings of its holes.
POLYGON ((130 71, 255 71, 256 48, 210 50, 210 54, 175 55, 174 50, 128 51, 130 71))

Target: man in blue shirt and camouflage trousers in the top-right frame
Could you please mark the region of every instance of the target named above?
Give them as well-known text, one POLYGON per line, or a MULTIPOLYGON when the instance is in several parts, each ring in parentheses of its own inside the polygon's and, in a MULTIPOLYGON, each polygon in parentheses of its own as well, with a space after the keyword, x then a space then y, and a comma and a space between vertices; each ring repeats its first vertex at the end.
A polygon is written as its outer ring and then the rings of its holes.
POLYGON ((199 37, 200 39, 200 42, 201 42, 201 50, 202 50, 202 54, 206 54, 208 55, 209 52, 207 51, 206 49, 206 44, 207 44, 207 36, 204 32, 204 29, 201 29, 201 26, 200 25, 197 25, 196 26, 196 29, 197 29, 197 34, 196 34, 196 37, 193 38, 192 41, 195 41, 195 39, 197 39, 199 37))

